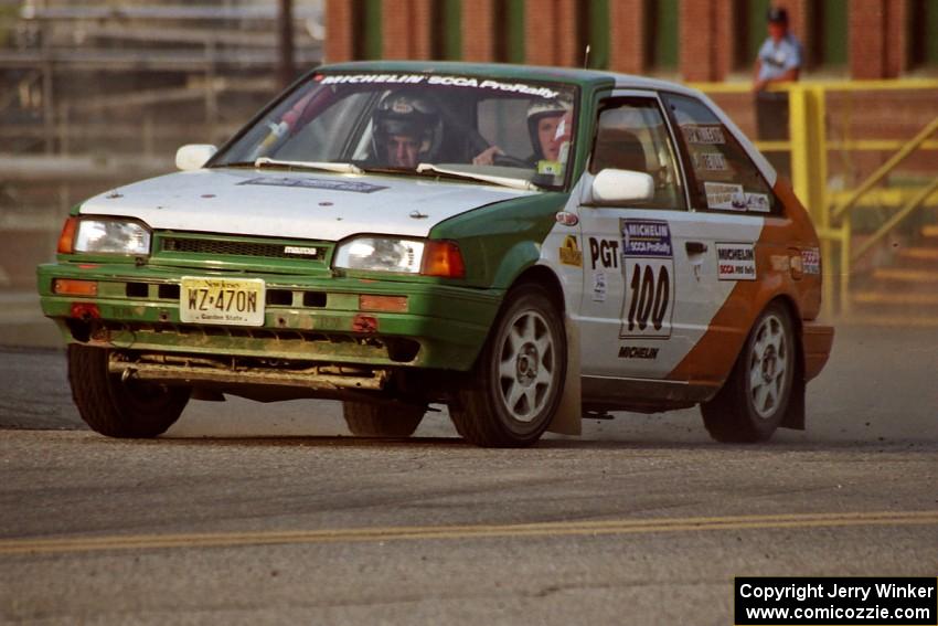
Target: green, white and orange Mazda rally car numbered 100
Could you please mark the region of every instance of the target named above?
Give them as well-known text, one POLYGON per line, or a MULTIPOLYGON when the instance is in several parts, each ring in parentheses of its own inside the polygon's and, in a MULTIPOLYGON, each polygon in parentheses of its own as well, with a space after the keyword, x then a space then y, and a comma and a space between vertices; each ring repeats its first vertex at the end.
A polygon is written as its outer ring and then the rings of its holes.
POLYGON ((38 269, 99 433, 224 394, 341 400, 365 436, 441 403, 482 446, 697 404, 721 442, 804 427, 833 340, 818 237, 700 92, 328 65, 177 165, 76 206, 38 269))

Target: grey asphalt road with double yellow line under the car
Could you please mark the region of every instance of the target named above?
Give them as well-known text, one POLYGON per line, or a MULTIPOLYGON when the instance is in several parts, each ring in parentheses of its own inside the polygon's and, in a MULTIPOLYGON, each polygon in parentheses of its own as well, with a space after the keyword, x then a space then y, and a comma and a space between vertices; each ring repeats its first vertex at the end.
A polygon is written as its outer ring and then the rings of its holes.
POLYGON ((809 428, 695 411, 473 448, 445 413, 194 402, 153 442, 81 424, 64 357, 0 350, 0 622, 721 624, 740 575, 938 575, 938 332, 841 328, 809 428))

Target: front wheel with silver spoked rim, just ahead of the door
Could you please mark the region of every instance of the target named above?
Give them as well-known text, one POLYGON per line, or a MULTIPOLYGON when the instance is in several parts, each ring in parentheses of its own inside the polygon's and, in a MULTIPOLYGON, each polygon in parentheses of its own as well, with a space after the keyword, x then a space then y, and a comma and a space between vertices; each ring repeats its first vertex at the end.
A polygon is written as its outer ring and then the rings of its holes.
POLYGON ((547 291, 531 284, 512 289, 472 384, 449 407, 456 431, 478 446, 530 446, 557 411, 566 365, 563 318, 547 291))

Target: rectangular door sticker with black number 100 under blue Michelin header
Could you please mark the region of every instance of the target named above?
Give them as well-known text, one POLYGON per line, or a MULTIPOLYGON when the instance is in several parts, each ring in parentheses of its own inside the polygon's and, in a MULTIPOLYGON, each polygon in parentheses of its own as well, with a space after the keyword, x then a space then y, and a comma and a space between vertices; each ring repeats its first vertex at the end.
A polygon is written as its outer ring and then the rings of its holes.
POLYGON ((621 220, 621 339, 668 339, 674 311, 674 250, 663 220, 621 220))

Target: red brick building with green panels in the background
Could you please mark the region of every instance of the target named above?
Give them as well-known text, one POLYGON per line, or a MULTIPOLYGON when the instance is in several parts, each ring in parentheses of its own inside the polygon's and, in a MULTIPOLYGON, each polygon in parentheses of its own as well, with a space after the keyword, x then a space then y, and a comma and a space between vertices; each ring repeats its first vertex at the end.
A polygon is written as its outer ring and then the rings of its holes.
MULTIPOLYGON (((806 74, 938 72, 934 0, 776 0, 806 74), (930 33, 930 36, 929 36, 930 33)), ((689 82, 748 77, 769 0, 327 0, 326 60, 588 65, 689 82)))

